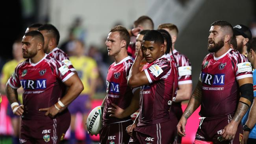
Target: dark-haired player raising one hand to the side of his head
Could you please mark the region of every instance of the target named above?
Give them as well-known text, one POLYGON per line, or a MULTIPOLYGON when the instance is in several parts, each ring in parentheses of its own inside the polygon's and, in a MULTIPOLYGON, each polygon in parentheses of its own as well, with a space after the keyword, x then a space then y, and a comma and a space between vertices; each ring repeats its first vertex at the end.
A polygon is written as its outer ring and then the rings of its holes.
POLYGON ((177 87, 175 67, 164 53, 163 35, 156 30, 148 31, 132 66, 128 85, 140 87, 140 109, 134 124, 127 127, 132 136, 129 143, 163 143, 174 141, 176 131, 169 117, 169 108, 177 87), (141 60, 147 68, 139 70, 141 60))

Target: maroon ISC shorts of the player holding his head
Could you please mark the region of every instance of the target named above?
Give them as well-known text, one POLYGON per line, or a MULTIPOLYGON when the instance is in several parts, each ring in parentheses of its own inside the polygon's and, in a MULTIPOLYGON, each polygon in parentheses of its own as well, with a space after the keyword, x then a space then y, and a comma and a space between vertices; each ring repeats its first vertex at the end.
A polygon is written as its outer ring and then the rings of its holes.
POLYGON ((177 133, 176 122, 153 124, 150 126, 137 126, 132 133, 129 144, 170 144, 173 143, 177 133))

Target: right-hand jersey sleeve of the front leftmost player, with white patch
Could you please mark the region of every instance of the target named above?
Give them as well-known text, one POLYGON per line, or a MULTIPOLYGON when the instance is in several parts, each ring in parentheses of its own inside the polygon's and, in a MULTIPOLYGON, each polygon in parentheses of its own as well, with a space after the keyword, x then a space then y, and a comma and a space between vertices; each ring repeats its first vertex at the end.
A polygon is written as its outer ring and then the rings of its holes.
POLYGON ((57 78, 61 79, 62 82, 65 82, 72 75, 74 75, 74 72, 71 72, 68 66, 65 65, 65 63, 62 63, 61 61, 56 61, 55 73, 57 78))

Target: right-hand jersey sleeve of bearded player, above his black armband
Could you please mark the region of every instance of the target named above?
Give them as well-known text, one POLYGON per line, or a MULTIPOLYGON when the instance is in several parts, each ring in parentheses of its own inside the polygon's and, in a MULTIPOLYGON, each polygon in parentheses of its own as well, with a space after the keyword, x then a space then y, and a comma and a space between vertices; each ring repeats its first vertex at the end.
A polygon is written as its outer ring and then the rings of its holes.
POLYGON ((252 77, 252 66, 245 55, 237 54, 237 59, 232 59, 232 64, 234 61, 236 62, 234 71, 237 80, 252 77))

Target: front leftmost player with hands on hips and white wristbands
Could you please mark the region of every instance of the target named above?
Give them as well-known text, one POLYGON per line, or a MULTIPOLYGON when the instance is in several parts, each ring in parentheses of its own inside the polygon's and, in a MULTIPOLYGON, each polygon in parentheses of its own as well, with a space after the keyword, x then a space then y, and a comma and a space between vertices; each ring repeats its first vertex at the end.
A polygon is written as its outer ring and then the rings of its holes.
POLYGON ((57 144, 70 126, 67 106, 83 90, 82 81, 61 61, 44 53, 44 37, 39 31, 25 33, 19 63, 7 82, 6 94, 13 113, 21 116, 20 143, 57 144), (64 83, 69 89, 64 93, 64 83), (22 87, 23 105, 17 100, 22 87))

